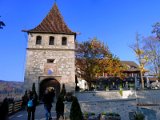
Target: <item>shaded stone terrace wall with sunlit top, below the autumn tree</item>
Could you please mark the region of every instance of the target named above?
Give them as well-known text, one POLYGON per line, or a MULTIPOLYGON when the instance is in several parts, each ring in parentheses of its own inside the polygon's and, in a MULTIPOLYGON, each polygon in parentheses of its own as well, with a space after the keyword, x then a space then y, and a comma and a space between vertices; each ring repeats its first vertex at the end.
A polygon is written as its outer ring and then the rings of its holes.
POLYGON ((82 112, 94 112, 97 115, 102 112, 115 112, 121 116, 121 120, 129 120, 129 113, 136 111, 136 98, 134 91, 90 91, 75 93, 82 112), (130 99, 128 99, 128 98, 130 99))

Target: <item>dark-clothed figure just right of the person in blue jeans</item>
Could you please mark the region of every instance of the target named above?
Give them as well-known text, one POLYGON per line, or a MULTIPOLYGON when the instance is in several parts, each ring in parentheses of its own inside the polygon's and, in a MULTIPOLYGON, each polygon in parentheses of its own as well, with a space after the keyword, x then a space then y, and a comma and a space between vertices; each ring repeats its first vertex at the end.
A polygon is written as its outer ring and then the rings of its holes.
POLYGON ((56 114, 57 114, 57 120, 59 120, 60 116, 64 119, 64 103, 63 103, 63 97, 59 96, 58 100, 56 102, 56 114))

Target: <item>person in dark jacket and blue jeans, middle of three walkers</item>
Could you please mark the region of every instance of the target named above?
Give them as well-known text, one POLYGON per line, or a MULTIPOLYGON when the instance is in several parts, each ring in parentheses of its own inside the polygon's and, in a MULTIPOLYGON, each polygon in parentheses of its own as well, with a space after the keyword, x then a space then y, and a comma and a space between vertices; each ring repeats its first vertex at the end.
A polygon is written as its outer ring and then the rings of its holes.
POLYGON ((44 108, 46 111, 46 120, 51 120, 51 108, 52 108, 52 102, 53 102, 53 97, 52 93, 49 91, 49 89, 45 90, 44 96, 43 96, 43 102, 44 102, 44 108))

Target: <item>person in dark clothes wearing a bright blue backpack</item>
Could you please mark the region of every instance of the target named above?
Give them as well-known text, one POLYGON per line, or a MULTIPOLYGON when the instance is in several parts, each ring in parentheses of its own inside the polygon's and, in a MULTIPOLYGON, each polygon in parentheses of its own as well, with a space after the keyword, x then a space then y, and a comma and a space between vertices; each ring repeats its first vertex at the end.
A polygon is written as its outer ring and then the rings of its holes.
POLYGON ((33 93, 30 91, 28 95, 28 102, 27 102, 28 120, 31 120, 31 116, 32 116, 32 120, 34 120, 35 108, 36 108, 36 105, 34 103, 33 93))

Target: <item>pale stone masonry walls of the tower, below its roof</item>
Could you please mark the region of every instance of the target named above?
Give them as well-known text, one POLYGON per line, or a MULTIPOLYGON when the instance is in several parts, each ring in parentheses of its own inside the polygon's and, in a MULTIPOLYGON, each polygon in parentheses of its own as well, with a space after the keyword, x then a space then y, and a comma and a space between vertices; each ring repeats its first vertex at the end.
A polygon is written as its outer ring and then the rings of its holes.
POLYGON ((65 83, 67 91, 73 91, 75 87, 75 44, 74 35, 36 34, 30 33, 25 69, 25 89, 31 89, 32 83, 36 83, 38 92, 41 76, 57 77, 59 83, 65 83), (36 36, 42 37, 42 44, 36 45, 36 36), (55 39, 54 45, 49 45, 49 37, 55 39), (62 37, 67 38, 67 45, 62 45, 62 37), (53 63, 47 63, 47 59, 53 59, 53 63), (48 74, 48 70, 52 73, 48 74))

